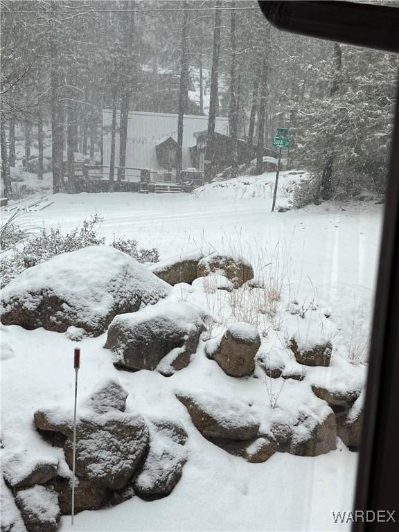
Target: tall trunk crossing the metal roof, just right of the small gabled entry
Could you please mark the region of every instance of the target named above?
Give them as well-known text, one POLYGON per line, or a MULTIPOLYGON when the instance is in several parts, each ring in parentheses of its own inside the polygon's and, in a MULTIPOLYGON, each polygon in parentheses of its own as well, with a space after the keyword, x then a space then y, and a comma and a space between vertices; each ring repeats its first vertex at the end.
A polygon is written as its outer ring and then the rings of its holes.
MULTIPOLYGON (((184 3, 184 8, 187 3, 184 3)), ((180 84, 179 84, 179 109, 177 116, 177 148, 176 148, 176 177, 183 167, 183 119, 187 111, 187 33, 188 33, 188 11, 184 10, 183 26, 181 27, 181 60, 180 60, 180 84)))

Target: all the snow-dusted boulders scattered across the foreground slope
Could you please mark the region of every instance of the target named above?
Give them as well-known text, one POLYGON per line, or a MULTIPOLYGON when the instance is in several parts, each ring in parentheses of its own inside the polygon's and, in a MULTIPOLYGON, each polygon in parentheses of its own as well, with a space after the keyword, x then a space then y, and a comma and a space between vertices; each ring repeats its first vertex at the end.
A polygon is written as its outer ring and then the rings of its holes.
MULTIPOLYGON (((186 367, 197 351, 211 317, 183 302, 162 301, 177 283, 211 276, 215 290, 251 283, 254 271, 245 260, 220 254, 192 254, 159 263, 152 271, 112 247, 89 247, 31 267, 2 291, 1 319, 27 329, 66 332, 79 341, 107 331, 105 348, 118 369, 159 371, 170 376, 186 367)), ((197 280, 197 281, 196 281, 197 280)), ((255 282, 254 282, 255 283, 255 282)), ((258 287, 255 283, 254 286, 258 287)), ((206 356, 231 378, 305 378, 314 366, 328 368, 332 344, 323 339, 290 349, 296 366, 285 367, 274 349, 265 353, 258 329, 231 323, 205 344, 206 356)), ((328 370, 326 370, 328 371, 328 370)), ((294 416, 273 418, 264 429, 265 411, 237 398, 178 393, 197 430, 211 443, 249 462, 263 462, 275 452, 317 456, 334 450, 339 436, 348 447, 360 442, 360 390, 339 391, 312 384, 320 403, 317 414, 298 409, 294 416)), ((186 463, 184 427, 148 420, 125 411, 127 391, 109 381, 92 393, 80 411, 76 441, 76 512, 104 508, 138 495, 165 497, 186 463)), ((21 468, 24 457, 9 459, 4 479, 15 493, 28 532, 53 532, 60 516, 71 513, 73 425, 70 412, 41 409, 35 426, 51 445, 62 447, 65 462, 36 460, 21 468)), ((25 460, 26 462, 26 460, 25 460)))

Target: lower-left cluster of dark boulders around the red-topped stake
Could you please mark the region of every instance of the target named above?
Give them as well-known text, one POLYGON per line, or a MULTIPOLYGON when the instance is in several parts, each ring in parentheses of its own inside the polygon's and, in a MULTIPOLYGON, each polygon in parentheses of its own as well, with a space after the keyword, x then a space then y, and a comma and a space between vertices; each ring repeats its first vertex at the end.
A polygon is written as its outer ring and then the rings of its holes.
MULTIPOLYGON (((80 409, 76 430, 76 513, 105 508, 134 495, 166 497, 186 463, 184 427, 168 420, 144 420, 125 411, 127 391, 109 380, 80 409)), ((67 465, 12 456, 3 465, 6 484, 28 532, 57 530, 71 514, 73 422, 71 413, 41 409, 35 426, 52 445, 62 445, 67 465), (23 470, 21 474, 21 469, 23 470)))

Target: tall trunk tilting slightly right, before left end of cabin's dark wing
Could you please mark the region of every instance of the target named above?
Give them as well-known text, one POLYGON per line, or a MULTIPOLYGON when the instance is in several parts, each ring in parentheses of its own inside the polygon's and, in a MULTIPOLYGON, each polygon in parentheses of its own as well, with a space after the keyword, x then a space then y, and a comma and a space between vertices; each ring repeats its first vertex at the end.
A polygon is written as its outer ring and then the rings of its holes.
POLYGON ((215 26, 213 29, 213 55, 212 55, 212 70, 211 70, 211 94, 209 98, 209 118, 208 118, 208 134, 206 136, 205 160, 211 161, 206 163, 205 173, 206 178, 210 179, 213 174, 213 159, 215 152, 215 123, 216 113, 218 112, 218 73, 219 73, 219 57, 220 57, 220 22, 221 22, 221 0, 217 0, 215 4, 215 26))

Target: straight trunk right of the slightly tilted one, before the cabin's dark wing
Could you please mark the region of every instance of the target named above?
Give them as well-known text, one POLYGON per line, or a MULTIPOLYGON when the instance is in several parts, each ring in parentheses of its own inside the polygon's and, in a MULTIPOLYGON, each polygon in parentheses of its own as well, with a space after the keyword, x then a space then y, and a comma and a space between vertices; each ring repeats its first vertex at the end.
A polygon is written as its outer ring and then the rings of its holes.
POLYGON ((238 134, 238 94, 237 94, 237 66, 236 66, 236 10, 231 4, 230 14, 230 44, 231 44, 231 66, 230 66, 230 100, 229 100, 229 130, 232 139, 231 167, 233 175, 236 175, 238 168, 237 134, 238 134))

